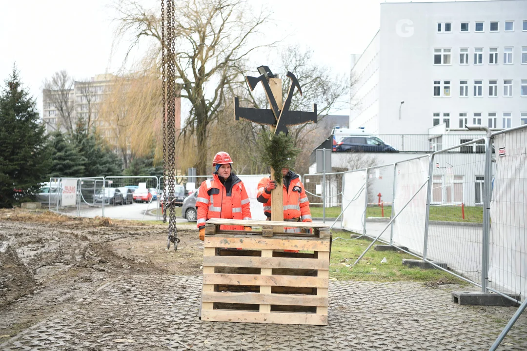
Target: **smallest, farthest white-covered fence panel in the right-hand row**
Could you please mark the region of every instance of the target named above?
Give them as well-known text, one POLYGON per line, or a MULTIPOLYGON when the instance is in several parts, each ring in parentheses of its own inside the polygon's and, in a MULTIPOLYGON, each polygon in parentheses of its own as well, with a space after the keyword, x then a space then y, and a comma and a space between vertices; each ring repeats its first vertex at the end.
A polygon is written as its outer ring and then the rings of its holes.
POLYGON ((366 169, 344 173, 342 191, 342 228, 352 232, 365 233, 366 219, 366 169))

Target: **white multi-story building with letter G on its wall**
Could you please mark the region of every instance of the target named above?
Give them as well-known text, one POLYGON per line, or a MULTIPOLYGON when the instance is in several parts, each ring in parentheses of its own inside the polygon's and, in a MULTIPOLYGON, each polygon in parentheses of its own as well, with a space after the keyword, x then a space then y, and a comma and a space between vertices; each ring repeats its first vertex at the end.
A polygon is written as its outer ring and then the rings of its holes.
POLYGON ((350 128, 527 124, 527 1, 382 3, 379 31, 352 56, 352 81, 350 128))

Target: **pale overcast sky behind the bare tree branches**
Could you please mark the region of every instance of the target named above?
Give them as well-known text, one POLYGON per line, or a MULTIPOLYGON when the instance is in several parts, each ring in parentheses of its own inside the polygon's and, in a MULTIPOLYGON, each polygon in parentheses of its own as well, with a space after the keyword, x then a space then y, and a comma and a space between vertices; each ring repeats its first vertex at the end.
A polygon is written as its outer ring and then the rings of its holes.
MULTIPOLYGON (((267 35, 271 41, 287 35, 283 45, 313 49, 317 63, 339 74, 349 74, 350 54, 362 53, 377 32, 382 2, 251 0, 253 6, 267 6, 274 12, 276 25, 267 35)), ((160 0, 143 3, 160 6, 160 0)), ((113 45, 116 14, 112 4, 111 0, 0 0, 2 86, 16 63, 42 111, 43 81, 54 72, 65 69, 77 80, 115 72, 126 45, 113 45)))

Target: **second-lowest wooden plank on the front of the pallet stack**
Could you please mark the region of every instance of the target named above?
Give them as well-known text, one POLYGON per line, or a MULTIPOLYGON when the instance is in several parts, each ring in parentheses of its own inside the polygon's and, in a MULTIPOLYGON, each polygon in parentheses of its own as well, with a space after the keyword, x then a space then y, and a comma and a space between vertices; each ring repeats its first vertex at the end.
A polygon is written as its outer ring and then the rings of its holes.
POLYGON ((315 295, 207 292, 203 293, 203 302, 327 307, 328 297, 315 295))

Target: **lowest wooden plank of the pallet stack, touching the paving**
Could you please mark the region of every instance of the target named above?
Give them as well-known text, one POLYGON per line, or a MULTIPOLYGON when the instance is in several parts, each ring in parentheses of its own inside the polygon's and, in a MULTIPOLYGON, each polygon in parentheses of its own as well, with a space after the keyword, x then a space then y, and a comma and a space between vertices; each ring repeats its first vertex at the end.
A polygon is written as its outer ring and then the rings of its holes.
POLYGON ((203 310, 201 320, 216 322, 327 325, 327 315, 309 313, 261 313, 236 310, 203 310))

